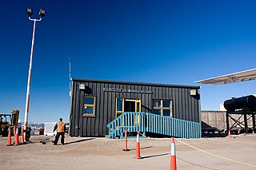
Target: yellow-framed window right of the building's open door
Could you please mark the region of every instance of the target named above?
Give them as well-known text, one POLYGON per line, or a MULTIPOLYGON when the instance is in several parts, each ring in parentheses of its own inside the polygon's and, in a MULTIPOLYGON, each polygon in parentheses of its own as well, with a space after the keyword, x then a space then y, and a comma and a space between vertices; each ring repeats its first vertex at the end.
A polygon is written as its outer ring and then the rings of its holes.
POLYGON ((172 101, 154 100, 153 113, 164 117, 172 117, 172 101))

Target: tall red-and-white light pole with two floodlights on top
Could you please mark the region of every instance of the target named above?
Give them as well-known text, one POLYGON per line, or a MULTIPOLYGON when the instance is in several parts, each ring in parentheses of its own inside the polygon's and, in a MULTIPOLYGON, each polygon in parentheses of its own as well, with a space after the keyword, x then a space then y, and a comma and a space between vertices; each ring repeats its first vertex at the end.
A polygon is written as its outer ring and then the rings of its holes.
POLYGON ((27 129, 27 118, 28 118, 28 114, 29 114, 29 109, 30 109, 30 80, 31 80, 31 73, 32 73, 32 59, 33 59, 33 52, 34 52, 34 32, 35 32, 35 23, 36 22, 40 22, 42 20, 42 18, 45 16, 46 14, 46 10, 40 9, 39 11, 39 15, 40 18, 39 19, 31 19, 31 15, 33 14, 33 10, 32 8, 27 8, 26 9, 26 14, 29 15, 29 19, 30 21, 34 22, 34 27, 33 27, 33 34, 32 34, 32 44, 31 44, 31 52, 30 52, 30 69, 29 69, 29 75, 27 78, 27 86, 26 86, 26 108, 25 108, 25 118, 24 118, 24 132, 23 132, 23 136, 24 136, 24 140, 25 142, 27 140, 29 140, 29 136, 28 136, 28 129, 27 129))

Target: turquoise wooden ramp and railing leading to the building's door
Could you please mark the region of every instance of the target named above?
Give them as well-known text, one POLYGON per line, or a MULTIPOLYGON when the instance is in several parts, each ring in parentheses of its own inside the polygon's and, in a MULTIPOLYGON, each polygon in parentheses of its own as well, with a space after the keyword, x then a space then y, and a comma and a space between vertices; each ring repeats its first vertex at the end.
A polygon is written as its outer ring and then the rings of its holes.
POLYGON ((109 138, 123 137, 125 129, 128 132, 153 132, 166 136, 182 138, 201 138, 201 124, 193 121, 184 121, 172 117, 162 117, 153 113, 122 113, 111 121, 109 138))

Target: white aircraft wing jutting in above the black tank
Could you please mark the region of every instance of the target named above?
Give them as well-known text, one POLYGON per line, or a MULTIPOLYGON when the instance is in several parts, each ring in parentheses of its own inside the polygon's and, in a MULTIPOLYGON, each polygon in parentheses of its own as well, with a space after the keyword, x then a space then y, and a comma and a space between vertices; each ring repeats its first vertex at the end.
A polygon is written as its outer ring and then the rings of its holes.
POLYGON ((240 81, 256 80, 256 69, 249 69, 242 72, 230 73, 219 77, 208 78, 201 81, 194 81, 195 83, 222 85, 227 83, 234 83, 240 81))

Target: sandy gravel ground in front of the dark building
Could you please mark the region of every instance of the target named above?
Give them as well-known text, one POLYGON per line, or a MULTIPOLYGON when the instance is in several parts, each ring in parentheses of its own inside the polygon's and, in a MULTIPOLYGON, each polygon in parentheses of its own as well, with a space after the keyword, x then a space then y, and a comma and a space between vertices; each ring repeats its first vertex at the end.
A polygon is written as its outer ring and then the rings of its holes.
MULTIPOLYGON (((29 144, 6 146, 7 137, 0 137, 0 169, 170 169, 170 138, 141 139, 141 160, 135 139, 128 141, 130 152, 122 151, 124 140, 66 136, 65 145, 53 145, 53 139, 31 136, 29 144)), ((175 142, 178 169, 256 169, 254 134, 175 142)))

